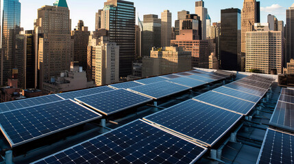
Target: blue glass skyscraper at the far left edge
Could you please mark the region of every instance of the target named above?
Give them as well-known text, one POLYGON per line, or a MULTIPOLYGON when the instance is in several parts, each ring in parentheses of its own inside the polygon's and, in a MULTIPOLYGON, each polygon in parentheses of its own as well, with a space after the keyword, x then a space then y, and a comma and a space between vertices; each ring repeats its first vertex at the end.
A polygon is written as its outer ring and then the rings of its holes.
POLYGON ((12 76, 15 67, 15 37, 21 27, 21 3, 19 0, 3 0, 3 21, 1 40, 1 85, 5 85, 12 76))

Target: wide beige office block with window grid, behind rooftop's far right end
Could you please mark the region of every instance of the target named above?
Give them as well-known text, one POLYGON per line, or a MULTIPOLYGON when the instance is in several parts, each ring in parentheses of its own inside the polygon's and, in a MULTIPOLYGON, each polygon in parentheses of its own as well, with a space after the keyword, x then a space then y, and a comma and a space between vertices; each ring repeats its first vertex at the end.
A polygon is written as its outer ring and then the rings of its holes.
POLYGON ((282 73, 284 42, 281 31, 246 33, 246 72, 282 73))

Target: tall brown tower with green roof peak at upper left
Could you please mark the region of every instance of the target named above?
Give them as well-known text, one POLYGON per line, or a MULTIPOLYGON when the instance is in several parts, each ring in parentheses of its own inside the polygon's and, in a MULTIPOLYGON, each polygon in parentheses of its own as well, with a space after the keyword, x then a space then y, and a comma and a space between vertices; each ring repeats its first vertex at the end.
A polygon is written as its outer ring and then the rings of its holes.
POLYGON ((45 5, 38 9, 35 23, 36 46, 38 46, 39 87, 59 77, 60 72, 69 70, 73 61, 73 39, 71 39, 71 18, 66 0, 45 5))

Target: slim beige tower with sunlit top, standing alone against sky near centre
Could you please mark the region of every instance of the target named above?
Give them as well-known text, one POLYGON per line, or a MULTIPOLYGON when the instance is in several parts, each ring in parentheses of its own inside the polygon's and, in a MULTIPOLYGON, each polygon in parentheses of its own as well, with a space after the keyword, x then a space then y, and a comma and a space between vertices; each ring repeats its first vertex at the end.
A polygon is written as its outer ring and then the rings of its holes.
POLYGON ((171 45, 171 12, 164 10, 161 13, 161 46, 171 45))

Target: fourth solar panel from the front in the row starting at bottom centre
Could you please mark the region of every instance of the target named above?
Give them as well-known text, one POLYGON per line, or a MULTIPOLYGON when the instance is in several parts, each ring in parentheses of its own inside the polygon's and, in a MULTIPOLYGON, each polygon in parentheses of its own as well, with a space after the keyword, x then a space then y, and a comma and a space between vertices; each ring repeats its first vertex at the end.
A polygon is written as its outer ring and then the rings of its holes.
POLYGON ((241 92, 238 90, 233 90, 229 87, 219 87, 217 89, 214 90, 215 92, 219 92, 222 94, 227 94, 230 96, 234 96, 236 98, 241 98, 243 100, 249 100, 251 102, 257 103, 260 100, 260 96, 255 96, 253 94, 247 94, 245 92, 241 92))

